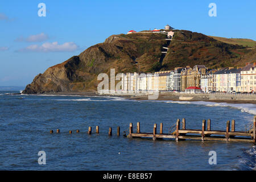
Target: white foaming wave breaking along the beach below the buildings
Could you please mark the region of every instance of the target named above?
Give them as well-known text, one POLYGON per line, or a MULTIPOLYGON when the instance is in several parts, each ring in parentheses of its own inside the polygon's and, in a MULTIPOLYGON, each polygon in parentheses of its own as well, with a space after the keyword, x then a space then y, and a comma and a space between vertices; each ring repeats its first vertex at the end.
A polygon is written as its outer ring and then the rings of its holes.
POLYGON ((209 107, 218 106, 218 107, 233 107, 240 109, 242 112, 250 113, 256 115, 256 105, 255 104, 228 104, 226 102, 206 102, 206 101, 164 101, 166 103, 175 103, 175 104, 196 104, 196 105, 205 105, 209 107))

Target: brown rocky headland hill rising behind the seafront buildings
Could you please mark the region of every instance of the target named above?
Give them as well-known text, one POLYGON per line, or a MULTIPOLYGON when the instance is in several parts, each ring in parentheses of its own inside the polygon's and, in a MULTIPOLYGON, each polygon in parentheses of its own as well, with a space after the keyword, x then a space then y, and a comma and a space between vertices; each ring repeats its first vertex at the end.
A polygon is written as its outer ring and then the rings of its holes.
POLYGON ((79 56, 48 68, 23 93, 96 91, 98 74, 109 74, 110 68, 115 68, 116 73, 154 72, 195 64, 213 68, 221 64, 238 65, 243 57, 255 57, 254 49, 222 43, 191 31, 177 31, 163 55, 166 37, 154 33, 112 35, 79 56))

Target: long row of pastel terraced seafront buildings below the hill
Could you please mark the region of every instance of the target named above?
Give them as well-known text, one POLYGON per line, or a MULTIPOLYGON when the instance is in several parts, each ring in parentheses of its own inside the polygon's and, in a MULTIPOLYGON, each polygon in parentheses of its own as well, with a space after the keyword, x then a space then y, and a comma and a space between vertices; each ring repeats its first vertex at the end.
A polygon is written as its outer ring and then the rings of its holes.
POLYGON ((122 73, 122 90, 200 92, 254 92, 256 90, 256 62, 245 67, 208 69, 205 65, 177 67, 173 71, 155 73, 122 73))

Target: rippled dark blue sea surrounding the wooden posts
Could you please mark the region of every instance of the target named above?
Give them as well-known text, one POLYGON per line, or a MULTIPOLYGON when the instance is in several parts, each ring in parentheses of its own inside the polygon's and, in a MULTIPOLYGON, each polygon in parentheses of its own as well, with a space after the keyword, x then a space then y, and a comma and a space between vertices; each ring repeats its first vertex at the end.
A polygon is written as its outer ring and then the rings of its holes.
POLYGON ((129 133, 129 123, 135 130, 140 122, 141 131, 147 133, 152 133, 154 123, 159 132, 163 123, 163 132, 168 133, 182 118, 188 129, 201 129, 202 120, 211 119, 212 130, 225 130, 226 121, 235 119, 236 130, 245 131, 256 115, 254 104, 10 95, 17 92, 0 91, 0 170, 256 169, 256 148, 250 142, 123 136, 129 133), (96 134, 97 125, 100 134, 96 134), (87 134, 89 126, 92 135, 87 134), (112 136, 108 136, 109 127, 112 136), (216 152, 216 164, 209 162, 210 151, 216 152))

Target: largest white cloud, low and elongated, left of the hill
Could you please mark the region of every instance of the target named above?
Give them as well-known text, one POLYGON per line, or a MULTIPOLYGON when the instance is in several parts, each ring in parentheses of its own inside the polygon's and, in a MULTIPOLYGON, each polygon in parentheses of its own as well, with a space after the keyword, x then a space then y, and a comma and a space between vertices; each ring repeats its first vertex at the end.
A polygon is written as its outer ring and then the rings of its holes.
POLYGON ((76 51, 79 48, 73 42, 66 42, 63 44, 58 44, 58 42, 53 43, 43 43, 42 46, 31 45, 23 49, 19 49, 19 52, 71 52, 76 51))

